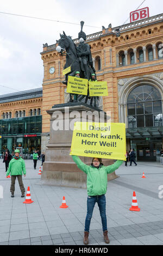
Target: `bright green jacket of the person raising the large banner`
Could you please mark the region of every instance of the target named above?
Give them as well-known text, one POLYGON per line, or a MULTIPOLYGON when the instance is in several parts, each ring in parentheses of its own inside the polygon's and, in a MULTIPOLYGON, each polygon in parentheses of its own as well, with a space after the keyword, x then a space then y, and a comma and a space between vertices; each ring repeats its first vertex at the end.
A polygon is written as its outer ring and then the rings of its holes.
POLYGON ((76 162, 78 168, 87 174, 87 194, 88 196, 101 196, 107 191, 108 173, 114 172, 123 163, 122 160, 117 160, 110 166, 87 166, 78 156, 73 156, 72 159, 76 162))

